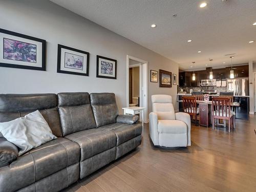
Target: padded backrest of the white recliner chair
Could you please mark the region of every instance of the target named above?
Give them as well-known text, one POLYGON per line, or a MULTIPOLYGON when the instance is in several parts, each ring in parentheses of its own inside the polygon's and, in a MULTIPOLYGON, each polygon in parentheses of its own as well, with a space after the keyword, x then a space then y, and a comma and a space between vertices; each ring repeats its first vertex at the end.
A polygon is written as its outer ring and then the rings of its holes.
POLYGON ((170 95, 152 95, 153 112, 158 115, 158 119, 176 119, 173 99, 170 95))

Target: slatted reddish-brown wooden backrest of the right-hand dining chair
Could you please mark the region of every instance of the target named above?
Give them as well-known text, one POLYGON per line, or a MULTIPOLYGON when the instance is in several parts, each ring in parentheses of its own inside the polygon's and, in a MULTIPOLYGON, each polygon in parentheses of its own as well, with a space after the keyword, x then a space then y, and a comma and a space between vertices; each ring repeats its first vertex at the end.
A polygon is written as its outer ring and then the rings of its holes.
POLYGON ((230 98, 212 97, 212 115, 214 118, 227 119, 230 117, 230 98))

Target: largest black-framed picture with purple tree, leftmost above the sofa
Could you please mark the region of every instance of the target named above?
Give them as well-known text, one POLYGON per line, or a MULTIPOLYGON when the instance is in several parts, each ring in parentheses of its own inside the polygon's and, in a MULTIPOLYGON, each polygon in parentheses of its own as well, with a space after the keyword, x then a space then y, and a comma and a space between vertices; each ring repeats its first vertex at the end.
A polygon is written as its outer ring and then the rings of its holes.
POLYGON ((46 40, 0 29, 0 67, 46 71, 46 40))

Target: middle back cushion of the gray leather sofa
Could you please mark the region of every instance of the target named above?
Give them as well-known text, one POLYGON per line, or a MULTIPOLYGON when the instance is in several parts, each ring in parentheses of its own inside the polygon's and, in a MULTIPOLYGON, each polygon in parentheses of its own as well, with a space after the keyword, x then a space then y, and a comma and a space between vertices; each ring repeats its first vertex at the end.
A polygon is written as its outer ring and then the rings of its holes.
POLYGON ((63 136, 96 127, 89 93, 58 93, 63 136))

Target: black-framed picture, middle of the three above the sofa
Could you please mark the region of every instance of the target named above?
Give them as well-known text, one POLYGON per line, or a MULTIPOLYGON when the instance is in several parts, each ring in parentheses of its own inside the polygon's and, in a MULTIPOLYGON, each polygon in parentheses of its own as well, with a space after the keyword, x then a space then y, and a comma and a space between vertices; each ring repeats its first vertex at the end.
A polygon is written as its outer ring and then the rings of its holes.
POLYGON ((89 55, 86 51, 58 44, 57 73, 89 76, 89 55))

